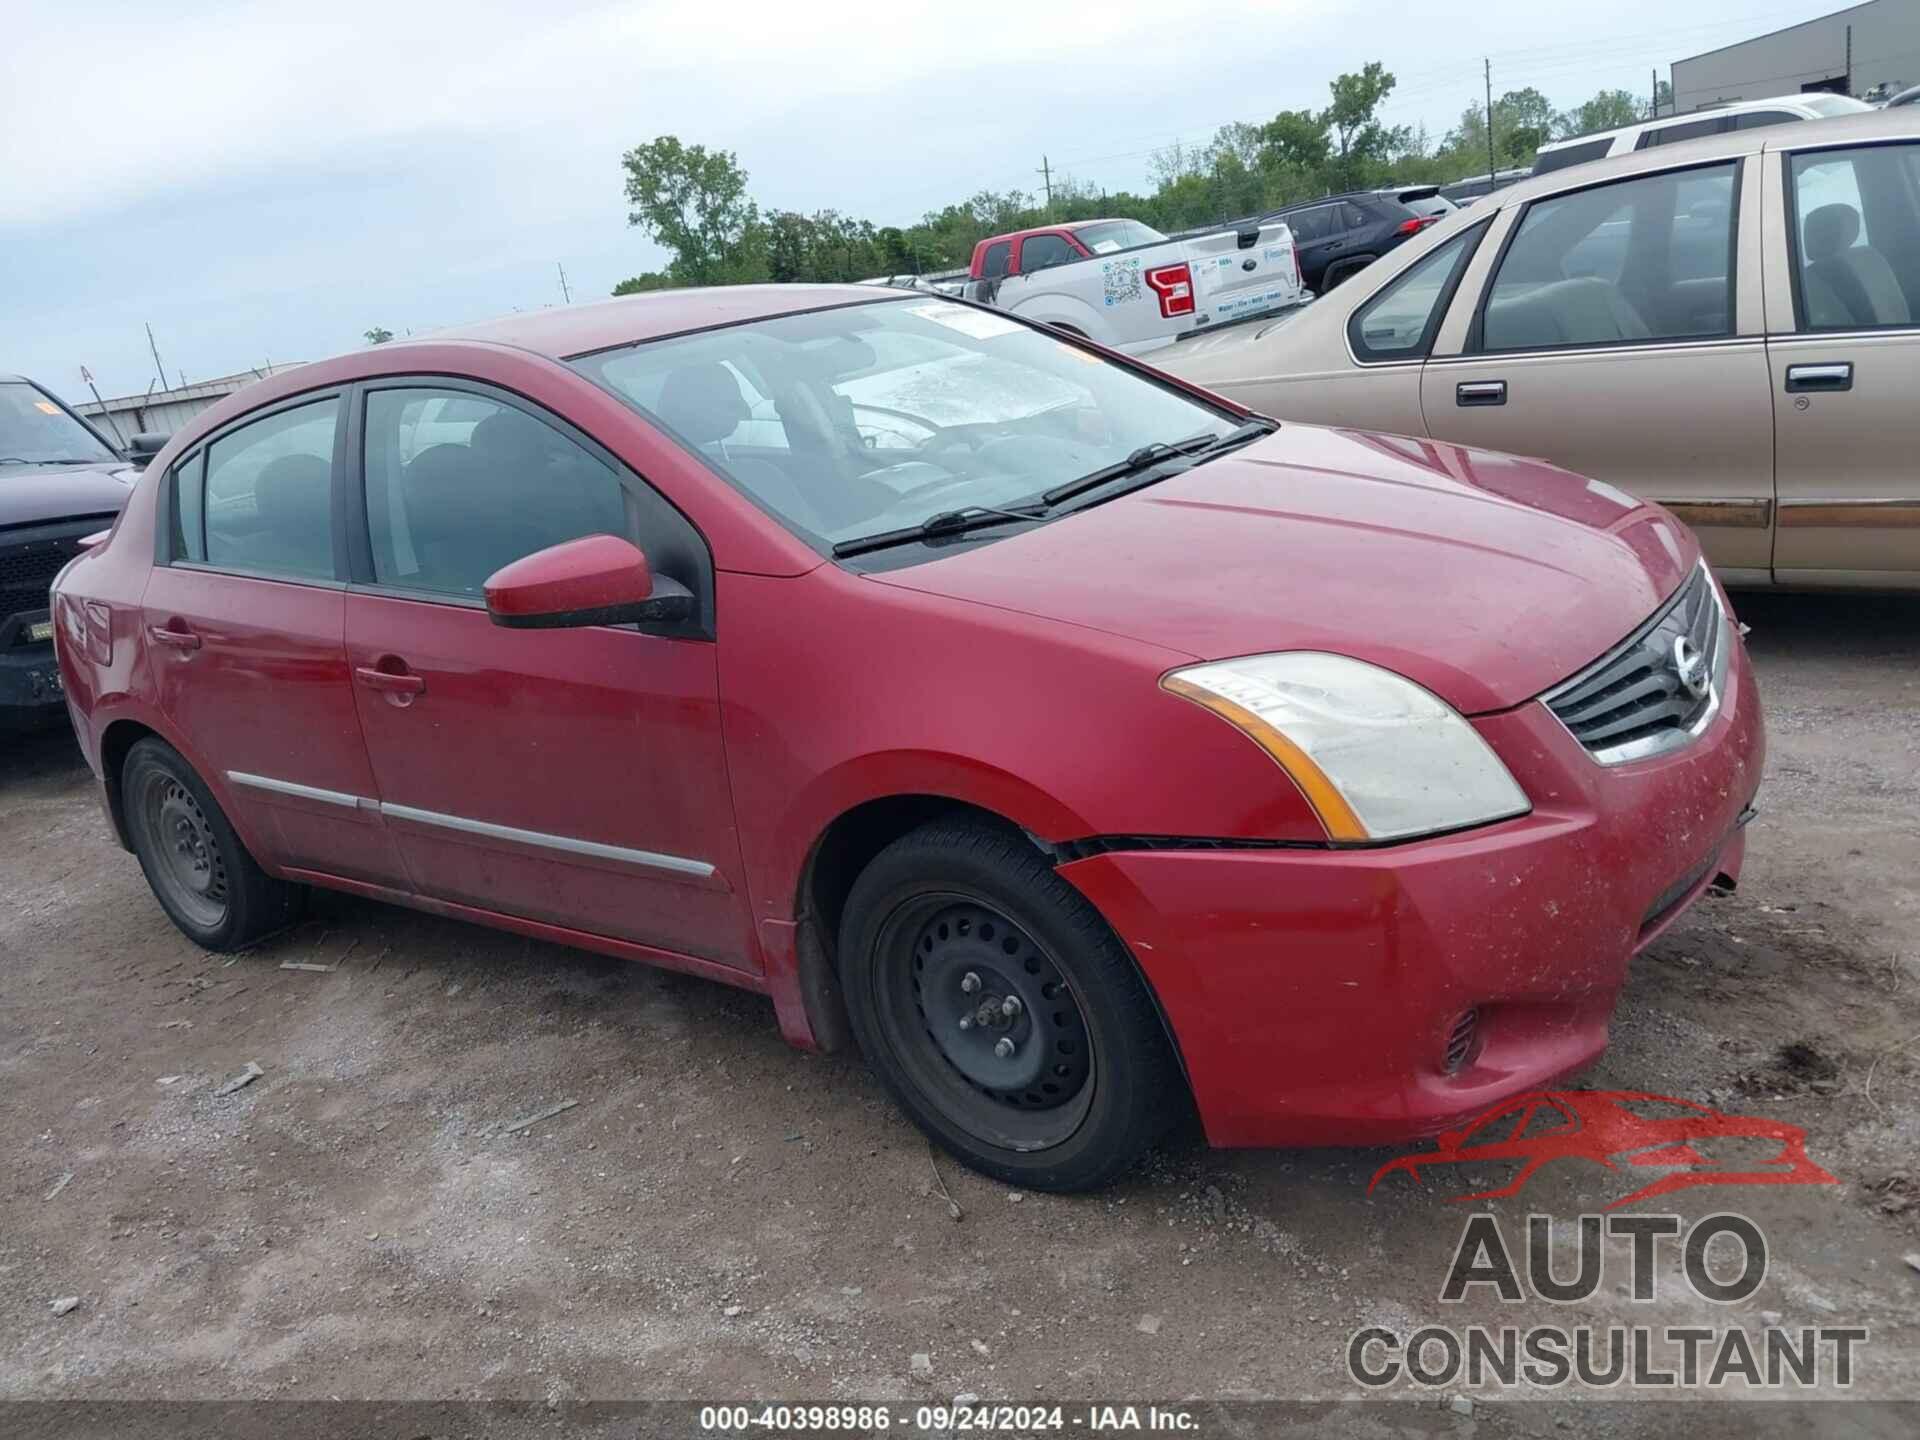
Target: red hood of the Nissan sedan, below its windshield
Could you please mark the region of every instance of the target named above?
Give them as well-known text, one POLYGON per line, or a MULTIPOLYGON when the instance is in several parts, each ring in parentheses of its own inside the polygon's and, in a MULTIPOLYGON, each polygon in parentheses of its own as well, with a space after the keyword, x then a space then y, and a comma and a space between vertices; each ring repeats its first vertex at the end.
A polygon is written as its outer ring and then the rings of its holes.
POLYGON ((1083 515, 874 578, 1208 660, 1350 655, 1478 714, 1597 659, 1697 557, 1659 507, 1546 461, 1288 424, 1083 515))

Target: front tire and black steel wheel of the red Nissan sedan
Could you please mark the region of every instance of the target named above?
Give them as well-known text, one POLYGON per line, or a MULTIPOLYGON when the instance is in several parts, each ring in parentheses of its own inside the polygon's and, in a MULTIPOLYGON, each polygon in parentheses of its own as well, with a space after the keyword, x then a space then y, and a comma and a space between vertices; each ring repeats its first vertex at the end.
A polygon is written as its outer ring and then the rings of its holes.
POLYGON ((1188 1110, 1133 956, 1016 831, 897 839, 847 897, 839 964, 868 1064, 983 1175, 1098 1188, 1188 1110))

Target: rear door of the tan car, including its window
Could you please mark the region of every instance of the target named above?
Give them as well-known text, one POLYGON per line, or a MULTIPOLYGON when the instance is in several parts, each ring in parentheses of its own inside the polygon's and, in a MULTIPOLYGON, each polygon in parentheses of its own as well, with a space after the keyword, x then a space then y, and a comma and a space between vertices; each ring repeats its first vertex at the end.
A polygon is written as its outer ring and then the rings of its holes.
POLYGON ((1734 263, 1757 232, 1740 161, 1526 205, 1490 282, 1453 301, 1473 315, 1461 351, 1421 372, 1427 432, 1655 499, 1722 578, 1764 582, 1772 401, 1757 267, 1734 263))

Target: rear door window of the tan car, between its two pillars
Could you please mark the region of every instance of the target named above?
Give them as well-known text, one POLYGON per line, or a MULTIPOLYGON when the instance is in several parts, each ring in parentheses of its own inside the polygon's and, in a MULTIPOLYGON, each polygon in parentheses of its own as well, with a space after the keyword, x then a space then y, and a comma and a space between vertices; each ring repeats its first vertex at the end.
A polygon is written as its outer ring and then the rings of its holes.
POLYGON ((1526 207, 1480 349, 1732 334, 1734 163, 1597 184, 1526 207))

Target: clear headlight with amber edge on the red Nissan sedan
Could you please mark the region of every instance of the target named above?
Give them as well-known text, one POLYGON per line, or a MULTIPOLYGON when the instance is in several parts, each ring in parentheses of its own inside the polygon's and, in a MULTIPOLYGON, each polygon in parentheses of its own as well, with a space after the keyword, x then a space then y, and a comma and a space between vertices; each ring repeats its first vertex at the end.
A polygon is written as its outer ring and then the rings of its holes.
POLYGON ((1271 755, 1331 839, 1407 839, 1532 808, 1453 707, 1377 664, 1286 651, 1194 664, 1160 684, 1271 755))

